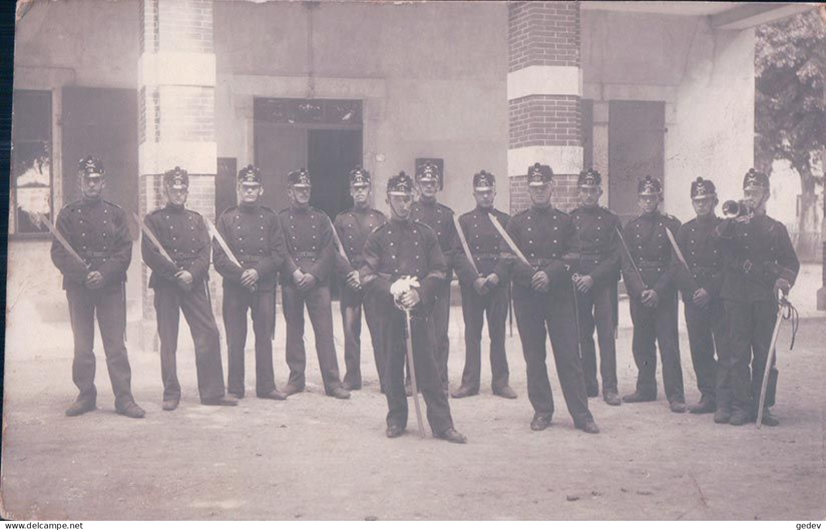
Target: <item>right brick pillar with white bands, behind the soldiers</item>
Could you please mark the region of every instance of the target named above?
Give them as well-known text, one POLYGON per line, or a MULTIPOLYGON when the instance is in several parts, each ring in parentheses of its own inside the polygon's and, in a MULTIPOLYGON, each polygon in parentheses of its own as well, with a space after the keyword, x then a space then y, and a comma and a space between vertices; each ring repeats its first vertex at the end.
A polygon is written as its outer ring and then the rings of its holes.
POLYGON ((582 171, 578 2, 509 2, 510 211, 529 206, 525 170, 553 168, 553 205, 577 204, 582 171))

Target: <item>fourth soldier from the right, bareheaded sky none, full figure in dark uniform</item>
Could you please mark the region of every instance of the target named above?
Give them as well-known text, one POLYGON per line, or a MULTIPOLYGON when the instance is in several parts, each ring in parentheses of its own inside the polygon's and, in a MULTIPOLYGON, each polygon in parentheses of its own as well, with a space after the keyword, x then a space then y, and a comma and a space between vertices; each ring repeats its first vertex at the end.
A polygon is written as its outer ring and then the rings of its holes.
POLYGON ((599 205, 602 176, 589 169, 577 180, 580 206, 571 212, 577 228, 574 252, 577 287, 580 349, 588 397, 599 394, 596 381, 594 328, 600 344, 602 397, 608 405, 620 405, 617 392, 617 357, 614 329, 616 325, 617 282, 619 282, 619 218, 599 205))

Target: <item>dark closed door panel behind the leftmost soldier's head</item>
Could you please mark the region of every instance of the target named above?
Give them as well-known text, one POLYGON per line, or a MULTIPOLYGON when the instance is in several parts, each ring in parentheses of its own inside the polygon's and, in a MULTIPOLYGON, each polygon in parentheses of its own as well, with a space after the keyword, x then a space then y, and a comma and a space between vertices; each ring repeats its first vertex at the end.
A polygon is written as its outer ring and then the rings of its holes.
MULTIPOLYGON (((78 161, 91 154, 100 157, 106 168, 107 201, 137 212, 137 92, 125 88, 66 87, 62 124, 64 204, 79 198, 78 161)), ((133 230, 132 235, 137 237, 137 231, 133 230)))

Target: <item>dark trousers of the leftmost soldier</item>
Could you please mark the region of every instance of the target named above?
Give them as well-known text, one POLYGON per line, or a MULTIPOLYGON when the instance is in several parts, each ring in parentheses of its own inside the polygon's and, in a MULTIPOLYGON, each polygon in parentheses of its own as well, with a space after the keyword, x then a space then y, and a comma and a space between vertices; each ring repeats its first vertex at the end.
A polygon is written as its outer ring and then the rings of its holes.
POLYGON ((66 290, 66 298, 69 300, 69 318, 74 334, 72 381, 80 390, 78 401, 94 404, 97 400, 93 352, 97 312, 97 325, 101 330, 109 380, 112 381, 112 392, 115 394, 115 407, 121 409, 129 405, 133 401, 132 372, 124 343, 126 300, 123 296, 123 284, 97 290, 80 286, 69 287, 66 290))

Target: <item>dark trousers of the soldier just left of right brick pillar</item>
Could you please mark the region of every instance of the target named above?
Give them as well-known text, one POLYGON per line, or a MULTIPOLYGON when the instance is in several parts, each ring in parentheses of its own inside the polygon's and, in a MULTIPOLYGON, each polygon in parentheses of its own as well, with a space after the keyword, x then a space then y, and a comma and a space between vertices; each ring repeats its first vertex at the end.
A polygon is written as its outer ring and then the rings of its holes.
POLYGON ((465 367, 462 386, 479 391, 482 372, 482 325, 487 313, 487 334, 491 338, 491 387, 508 386, 508 358, 505 353, 505 323, 508 318, 508 282, 501 282, 486 295, 472 286, 461 286, 462 316, 465 324, 465 367))

